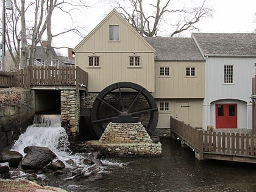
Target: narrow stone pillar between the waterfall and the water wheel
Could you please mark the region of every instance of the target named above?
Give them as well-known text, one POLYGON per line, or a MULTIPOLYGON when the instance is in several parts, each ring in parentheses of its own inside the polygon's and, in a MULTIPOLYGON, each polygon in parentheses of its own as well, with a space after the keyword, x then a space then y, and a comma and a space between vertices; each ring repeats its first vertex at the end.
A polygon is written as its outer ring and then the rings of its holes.
POLYGON ((80 98, 75 90, 60 91, 62 126, 71 144, 75 143, 79 126, 80 98))

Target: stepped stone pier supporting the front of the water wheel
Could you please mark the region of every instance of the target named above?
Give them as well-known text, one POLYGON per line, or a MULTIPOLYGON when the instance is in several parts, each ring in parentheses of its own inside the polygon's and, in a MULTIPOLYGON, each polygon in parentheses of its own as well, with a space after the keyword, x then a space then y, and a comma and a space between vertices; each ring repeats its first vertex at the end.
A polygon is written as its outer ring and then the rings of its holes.
POLYGON ((140 122, 109 123, 98 143, 91 143, 91 147, 104 155, 114 156, 162 154, 162 144, 153 143, 140 122))

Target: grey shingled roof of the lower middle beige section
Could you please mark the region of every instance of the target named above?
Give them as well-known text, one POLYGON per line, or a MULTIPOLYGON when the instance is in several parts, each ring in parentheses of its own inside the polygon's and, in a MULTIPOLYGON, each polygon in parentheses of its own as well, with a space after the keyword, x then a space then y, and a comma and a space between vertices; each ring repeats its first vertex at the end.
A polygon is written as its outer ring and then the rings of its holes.
POLYGON ((201 61, 204 60, 193 38, 145 37, 155 48, 155 60, 162 61, 201 61))

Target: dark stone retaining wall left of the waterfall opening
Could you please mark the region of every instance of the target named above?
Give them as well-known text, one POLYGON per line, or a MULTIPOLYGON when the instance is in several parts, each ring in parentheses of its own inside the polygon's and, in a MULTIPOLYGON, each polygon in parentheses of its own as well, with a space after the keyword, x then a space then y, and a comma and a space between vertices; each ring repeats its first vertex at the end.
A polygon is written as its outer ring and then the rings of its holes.
POLYGON ((0 151, 9 150, 27 126, 32 124, 34 91, 21 88, 0 89, 0 151))

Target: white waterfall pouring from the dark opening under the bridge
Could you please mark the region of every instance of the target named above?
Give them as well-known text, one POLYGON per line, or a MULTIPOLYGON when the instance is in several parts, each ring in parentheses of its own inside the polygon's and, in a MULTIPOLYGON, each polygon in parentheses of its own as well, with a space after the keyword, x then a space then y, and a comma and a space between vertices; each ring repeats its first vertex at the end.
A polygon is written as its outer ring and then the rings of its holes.
POLYGON ((56 154, 66 155, 69 152, 68 135, 60 121, 60 115, 35 115, 34 124, 20 135, 12 150, 24 155, 23 149, 27 146, 43 146, 56 154))

